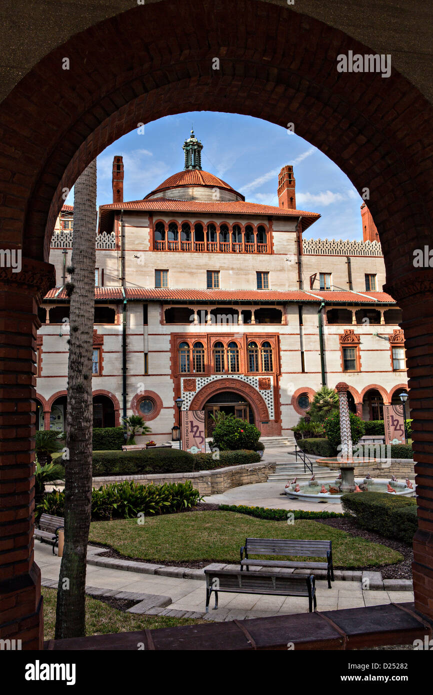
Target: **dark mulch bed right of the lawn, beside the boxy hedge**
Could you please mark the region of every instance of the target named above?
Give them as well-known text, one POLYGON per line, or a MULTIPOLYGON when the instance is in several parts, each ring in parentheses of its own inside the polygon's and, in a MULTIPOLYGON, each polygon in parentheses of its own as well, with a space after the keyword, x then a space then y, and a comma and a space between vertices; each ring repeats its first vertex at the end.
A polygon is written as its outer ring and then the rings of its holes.
MULTIPOLYGON (((374 531, 366 531, 359 528, 356 521, 351 518, 334 518, 334 519, 315 519, 319 523, 324 523, 327 526, 334 526, 341 531, 346 531, 352 536, 358 536, 359 538, 365 538, 366 541, 371 541, 372 543, 382 543, 384 546, 388 546, 393 550, 397 550, 405 558, 402 562, 391 565, 382 566, 359 566, 351 567, 350 569, 359 570, 365 569, 370 572, 382 572, 383 579, 410 579, 412 578, 412 562, 414 562, 414 550, 412 546, 408 546, 402 541, 394 541, 391 538, 385 538, 374 531)), ((334 569, 347 569, 344 567, 335 566, 334 569)))

